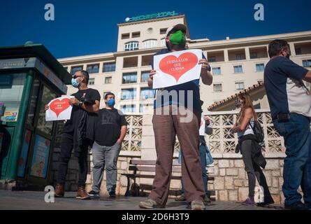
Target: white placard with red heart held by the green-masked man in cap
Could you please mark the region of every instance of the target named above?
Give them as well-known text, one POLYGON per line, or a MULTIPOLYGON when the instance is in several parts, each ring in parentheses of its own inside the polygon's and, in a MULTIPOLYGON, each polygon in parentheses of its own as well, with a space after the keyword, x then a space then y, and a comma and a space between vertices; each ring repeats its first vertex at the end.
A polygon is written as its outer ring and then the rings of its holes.
POLYGON ((200 78, 202 50, 180 50, 154 56, 153 88, 179 85, 200 78))

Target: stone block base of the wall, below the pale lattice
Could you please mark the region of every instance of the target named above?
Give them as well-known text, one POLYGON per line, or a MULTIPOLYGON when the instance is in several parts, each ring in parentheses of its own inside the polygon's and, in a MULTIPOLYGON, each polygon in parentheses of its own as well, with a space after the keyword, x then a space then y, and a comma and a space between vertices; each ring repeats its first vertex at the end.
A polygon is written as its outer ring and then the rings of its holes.
MULTIPOLYGON (((51 171, 51 184, 56 183, 56 174, 58 166, 59 148, 55 149, 53 155, 53 166, 51 171)), ((124 195, 126 193, 127 179, 126 176, 121 174, 129 173, 129 161, 133 158, 140 158, 140 156, 120 155, 117 162, 117 195, 124 195)), ((87 191, 92 187, 92 153, 89 154, 89 173, 87 174, 87 191)), ((178 158, 175 155, 173 163, 177 163, 178 158)), ((284 196, 282 194, 283 183, 283 158, 267 158, 266 169, 263 169, 263 173, 266 176, 270 193, 275 200, 275 203, 282 204, 284 202, 284 196)), ((208 189, 215 190, 215 200, 217 201, 243 201, 247 198, 248 194, 248 178, 245 172, 244 163, 241 158, 214 158, 213 169, 215 181, 208 182, 208 189)), ((152 185, 152 179, 136 179, 138 186, 141 184, 152 185)), ((133 190, 133 181, 130 186, 133 190)), ((256 182, 256 186, 258 186, 256 182)), ((73 157, 68 163, 68 174, 66 176, 65 189, 68 191, 75 191, 78 188, 78 160, 73 157)), ((171 181, 171 197, 178 195, 181 190, 181 183, 178 180, 171 181)), ((140 195, 147 195, 150 193, 149 189, 140 189, 140 195)), ((107 195, 106 190, 106 172, 103 174, 103 181, 101 184, 101 194, 107 195)))

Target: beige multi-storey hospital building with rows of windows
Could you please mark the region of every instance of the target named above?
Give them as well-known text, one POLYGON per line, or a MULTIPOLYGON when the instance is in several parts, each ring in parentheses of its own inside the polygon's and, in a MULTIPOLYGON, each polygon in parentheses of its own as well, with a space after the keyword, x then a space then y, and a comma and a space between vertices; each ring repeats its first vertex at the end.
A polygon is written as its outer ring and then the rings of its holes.
MULTIPOLYGON (((155 52, 165 48, 168 27, 185 24, 185 15, 174 15, 150 20, 134 20, 117 25, 117 51, 59 59, 68 71, 89 71, 89 87, 99 90, 101 107, 105 106, 106 92, 117 94, 116 108, 126 114, 143 114, 153 109, 154 91, 147 87, 151 59, 155 52)), ((219 28, 220 29, 220 28, 219 28)), ((311 69, 311 31, 246 38, 210 41, 208 38, 191 39, 188 27, 187 46, 201 49, 212 67, 213 84, 200 85, 203 112, 215 102, 256 85, 263 80, 263 69, 269 61, 268 43, 275 38, 289 42, 291 59, 311 69)), ((310 85, 309 85, 310 87, 310 85)), ((68 94, 76 90, 68 86, 68 94)), ((268 109, 263 96, 257 109, 268 109)), ((256 103, 256 102, 255 102, 256 103)))

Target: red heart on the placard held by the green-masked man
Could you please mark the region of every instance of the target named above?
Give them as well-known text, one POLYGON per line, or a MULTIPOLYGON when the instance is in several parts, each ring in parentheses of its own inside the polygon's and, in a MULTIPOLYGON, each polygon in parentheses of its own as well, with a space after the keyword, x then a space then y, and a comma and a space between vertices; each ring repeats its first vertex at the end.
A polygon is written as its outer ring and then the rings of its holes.
POLYGON ((193 69, 196 64, 198 64, 198 57, 193 53, 187 52, 179 57, 174 55, 164 57, 159 63, 159 68, 164 73, 173 76, 176 82, 178 82, 180 77, 190 69, 193 69))

